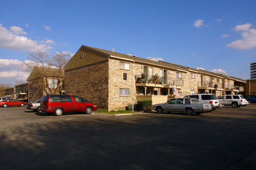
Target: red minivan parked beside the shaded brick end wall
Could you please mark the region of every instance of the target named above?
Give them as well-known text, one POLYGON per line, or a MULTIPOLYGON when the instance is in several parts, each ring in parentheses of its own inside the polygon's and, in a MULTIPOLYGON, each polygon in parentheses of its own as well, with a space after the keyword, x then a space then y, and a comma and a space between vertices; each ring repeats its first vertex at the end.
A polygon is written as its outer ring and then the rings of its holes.
POLYGON ((97 109, 95 104, 79 96, 49 94, 43 95, 39 111, 46 112, 48 115, 54 113, 56 116, 61 116, 63 112, 86 112, 91 114, 97 109))

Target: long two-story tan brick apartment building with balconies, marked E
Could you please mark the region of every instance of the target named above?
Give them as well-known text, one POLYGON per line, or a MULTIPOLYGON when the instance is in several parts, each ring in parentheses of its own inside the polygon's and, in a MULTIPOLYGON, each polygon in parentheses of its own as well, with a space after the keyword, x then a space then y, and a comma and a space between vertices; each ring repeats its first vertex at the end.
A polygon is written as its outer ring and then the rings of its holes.
POLYGON ((65 70, 65 93, 80 95, 98 108, 124 110, 140 100, 166 102, 191 93, 236 94, 246 81, 189 68, 176 63, 153 61, 112 51, 81 46, 65 70))

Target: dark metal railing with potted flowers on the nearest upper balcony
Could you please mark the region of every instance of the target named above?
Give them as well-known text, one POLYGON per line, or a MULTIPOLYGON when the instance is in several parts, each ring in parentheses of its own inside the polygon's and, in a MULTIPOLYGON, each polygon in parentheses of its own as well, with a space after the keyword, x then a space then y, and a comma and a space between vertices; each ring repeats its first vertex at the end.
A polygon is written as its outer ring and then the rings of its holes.
POLYGON ((136 83, 156 83, 171 86, 183 86, 184 80, 175 78, 166 78, 156 75, 136 75, 136 83))

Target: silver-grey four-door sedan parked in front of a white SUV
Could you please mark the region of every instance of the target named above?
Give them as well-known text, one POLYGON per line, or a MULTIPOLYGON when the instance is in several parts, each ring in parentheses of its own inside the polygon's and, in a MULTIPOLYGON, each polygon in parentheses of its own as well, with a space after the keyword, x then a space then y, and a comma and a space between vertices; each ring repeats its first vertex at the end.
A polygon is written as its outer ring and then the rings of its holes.
POLYGON ((196 98, 174 98, 166 103, 152 105, 152 110, 158 113, 163 112, 186 112, 187 115, 193 115, 211 112, 210 103, 199 102, 196 98))

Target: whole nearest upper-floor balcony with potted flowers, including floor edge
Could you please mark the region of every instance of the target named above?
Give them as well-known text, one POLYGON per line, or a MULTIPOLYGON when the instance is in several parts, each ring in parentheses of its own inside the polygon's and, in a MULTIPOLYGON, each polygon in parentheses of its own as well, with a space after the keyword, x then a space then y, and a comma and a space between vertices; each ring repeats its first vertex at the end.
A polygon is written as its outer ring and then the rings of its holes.
POLYGON ((181 88, 184 80, 175 78, 166 78, 158 75, 135 75, 136 86, 156 86, 164 88, 181 88))

